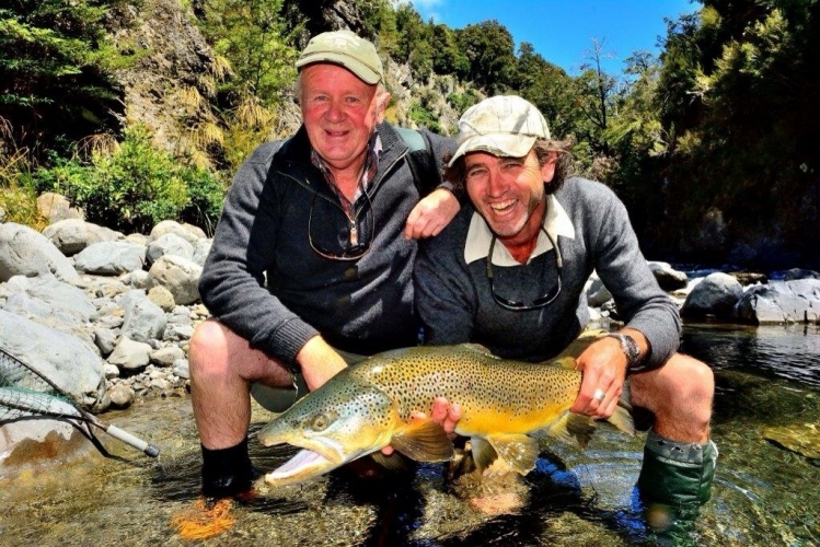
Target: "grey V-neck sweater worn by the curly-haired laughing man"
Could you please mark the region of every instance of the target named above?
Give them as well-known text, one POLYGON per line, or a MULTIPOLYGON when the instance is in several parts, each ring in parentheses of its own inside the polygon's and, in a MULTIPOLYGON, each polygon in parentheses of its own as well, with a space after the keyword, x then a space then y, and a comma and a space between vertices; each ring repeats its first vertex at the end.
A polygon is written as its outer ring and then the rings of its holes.
MULTIPOLYGON (((678 309, 649 270, 623 203, 607 186, 578 177, 567 179, 555 198, 575 229, 575 238, 558 236, 564 271, 557 300, 524 312, 507 311, 494 302, 486 258, 469 265, 464 259, 475 212, 467 206, 441 234, 421 245, 416 260, 416 303, 425 341, 472 341, 508 359, 550 359, 589 322, 584 287, 594 269, 627 325, 646 335, 650 362, 665 362, 679 346, 678 309)), ((494 269, 496 293, 508 300, 532 302, 557 279, 554 251, 524 266, 494 269)))

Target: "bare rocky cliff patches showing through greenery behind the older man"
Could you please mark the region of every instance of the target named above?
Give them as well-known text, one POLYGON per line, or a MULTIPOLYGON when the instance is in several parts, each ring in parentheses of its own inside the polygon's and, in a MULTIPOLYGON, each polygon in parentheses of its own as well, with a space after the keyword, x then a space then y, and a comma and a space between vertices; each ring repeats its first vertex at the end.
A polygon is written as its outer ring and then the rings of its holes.
MULTIPOLYGON (((304 44, 323 31, 361 32, 362 23, 351 0, 291 1, 287 8, 296 13, 292 16, 307 18, 305 31, 299 38, 304 44)), ((175 153, 188 150, 192 127, 213 120, 207 106, 217 98, 215 81, 230 70, 221 65, 197 26, 195 9, 196 4, 183 0, 145 0, 139 9, 128 7, 112 18, 117 44, 139 54, 132 67, 118 72, 125 90, 125 121, 146 125, 157 146, 175 153)), ((447 96, 463 92, 463 84, 452 77, 434 74, 421 81, 407 65, 392 59, 384 59, 384 66, 393 96, 388 110, 390 121, 416 127, 409 112, 414 103, 423 101, 425 108, 438 116, 440 131, 455 131, 460 113, 447 102, 447 96)), ((299 124, 299 108, 291 100, 276 113, 269 137, 288 135, 299 124)))

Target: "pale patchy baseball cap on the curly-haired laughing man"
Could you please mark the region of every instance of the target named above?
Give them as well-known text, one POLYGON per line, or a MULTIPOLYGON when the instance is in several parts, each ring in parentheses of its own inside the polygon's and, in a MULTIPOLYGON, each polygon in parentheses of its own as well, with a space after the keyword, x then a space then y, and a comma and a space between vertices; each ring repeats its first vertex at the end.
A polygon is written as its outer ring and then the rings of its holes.
POLYGON ((515 95, 485 98, 461 116, 455 137, 458 148, 448 166, 462 155, 478 151, 523 158, 539 138, 548 139, 550 128, 530 102, 515 95))

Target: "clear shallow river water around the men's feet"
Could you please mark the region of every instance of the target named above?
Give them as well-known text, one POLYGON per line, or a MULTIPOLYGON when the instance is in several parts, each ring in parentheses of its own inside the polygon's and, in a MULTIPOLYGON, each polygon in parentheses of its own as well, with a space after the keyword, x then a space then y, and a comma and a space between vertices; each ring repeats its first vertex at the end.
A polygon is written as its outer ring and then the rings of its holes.
MULTIPOLYGON (((715 369, 720 451, 713 498, 686 542, 820 545, 820 461, 812 459, 820 451, 812 429, 820 421, 820 326, 686 325, 682 349, 715 369), (795 435, 802 447, 792 444, 795 435)), ((252 431, 269 417, 254 408, 252 431)), ((339 470, 275 491, 261 485, 250 499, 204 508, 187 395, 104 419, 159 445, 160 457, 101 435, 116 458, 89 447, 62 465, 0 477, 0 545, 669 543, 634 501, 643 435, 630 439, 605 424, 586 451, 543 441, 538 468, 496 499, 517 500, 506 511, 471 500, 470 485, 453 487, 441 465, 380 479, 339 470)), ((293 453, 253 439, 251 447, 263 470, 293 453)))

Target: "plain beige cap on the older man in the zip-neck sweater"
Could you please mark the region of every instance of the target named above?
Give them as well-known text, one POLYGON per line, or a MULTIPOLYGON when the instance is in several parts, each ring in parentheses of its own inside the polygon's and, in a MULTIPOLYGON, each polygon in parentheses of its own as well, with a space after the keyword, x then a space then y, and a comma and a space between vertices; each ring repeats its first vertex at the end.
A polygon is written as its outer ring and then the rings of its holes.
POLYGON ((350 31, 313 36, 296 61, 296 68, 301 70, 314 62, 340 65, 371 85, 384 81, 384 69, 376 47, 350 31))

